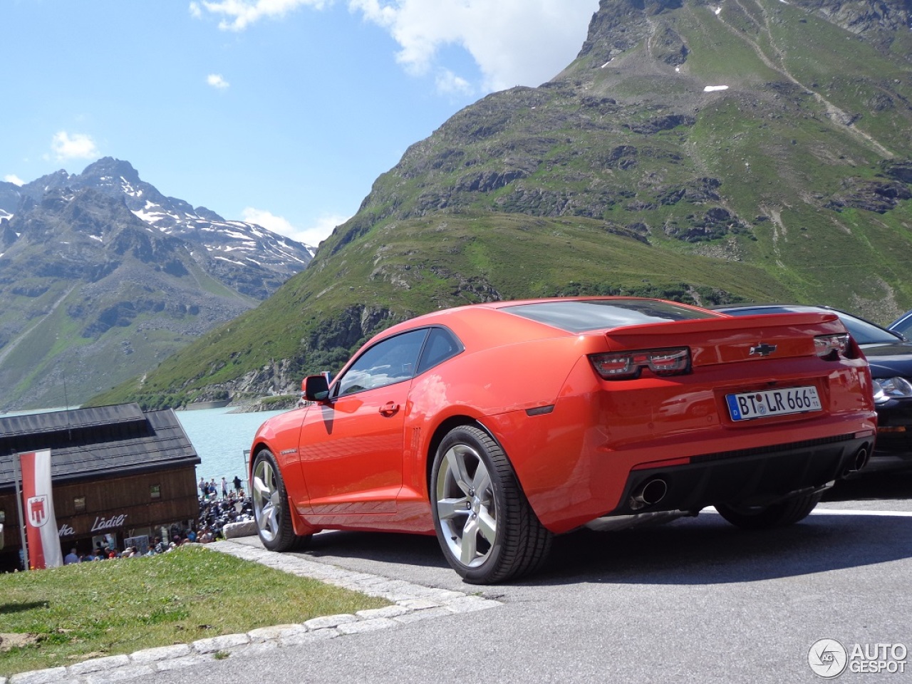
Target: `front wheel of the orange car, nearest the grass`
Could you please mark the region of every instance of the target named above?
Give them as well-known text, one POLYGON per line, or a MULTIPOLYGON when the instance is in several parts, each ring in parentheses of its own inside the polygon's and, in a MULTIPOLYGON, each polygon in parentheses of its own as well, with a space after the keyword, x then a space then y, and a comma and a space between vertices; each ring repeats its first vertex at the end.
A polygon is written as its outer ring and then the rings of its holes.
POLYGON ((291 522, 288 492, 282 471, 272 452, 264 449, 254 459, 251 488, 254 500, 254 520, 260 541, 270 551, 293 551, 310 541, 312 535, 298 536, 291 522))

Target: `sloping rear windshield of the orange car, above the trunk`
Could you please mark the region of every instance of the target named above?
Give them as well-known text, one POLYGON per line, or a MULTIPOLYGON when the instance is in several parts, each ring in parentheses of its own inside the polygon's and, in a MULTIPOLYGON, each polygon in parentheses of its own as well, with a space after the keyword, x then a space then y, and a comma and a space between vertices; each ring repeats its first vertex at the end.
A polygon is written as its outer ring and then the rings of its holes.
POLYGON ((568 333, 602 330, 645 323, 668 323, 695 318, 716 318, 710 312, 651 299, 594 299, 588 301, 536 302, 504 306, 516 316, 530 318, 568 333))

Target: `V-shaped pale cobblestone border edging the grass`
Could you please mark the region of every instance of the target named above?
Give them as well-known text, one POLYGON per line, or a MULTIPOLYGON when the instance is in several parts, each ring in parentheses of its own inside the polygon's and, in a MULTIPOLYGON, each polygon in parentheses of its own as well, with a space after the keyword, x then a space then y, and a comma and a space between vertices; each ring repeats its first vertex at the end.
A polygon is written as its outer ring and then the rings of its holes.
POLYGON ((296 555, 275 554, 232 540, 207 544, 206 547, 294 575, 313 577, 329 585, 386 598, 395 605, 359 610, 351 615, 314 617, 299 625, 259 627, 245 634, 204 638, 191 644, 146 648, 130 655, 91 658, 66 668, 20 672, 9 678, 0 677, 0 684, 108 684, 130 681, 140 675, 189 668, 216 658, 242 653, 258 655, 275 648, 301 646, 321 639, 389 629, 419 620, 470 613, 501 605, 498 601, 482 596, 468 596, 461 592, 414 585, 380 575, 352 572, 296 555))

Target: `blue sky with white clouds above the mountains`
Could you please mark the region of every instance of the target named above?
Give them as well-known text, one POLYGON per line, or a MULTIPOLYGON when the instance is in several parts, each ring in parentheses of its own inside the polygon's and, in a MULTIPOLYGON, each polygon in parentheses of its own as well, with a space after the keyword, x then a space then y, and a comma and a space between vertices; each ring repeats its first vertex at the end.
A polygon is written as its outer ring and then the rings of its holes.
POLYGON ((459 109, 568 65, 598 0, 2 0, 0 179, 99 157, 318 244, 459 109))

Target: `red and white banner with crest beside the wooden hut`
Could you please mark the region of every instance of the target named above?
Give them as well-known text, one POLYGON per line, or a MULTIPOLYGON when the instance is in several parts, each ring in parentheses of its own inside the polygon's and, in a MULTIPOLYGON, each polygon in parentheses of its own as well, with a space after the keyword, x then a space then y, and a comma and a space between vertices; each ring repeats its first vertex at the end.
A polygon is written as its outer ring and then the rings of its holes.
POLYGON ((57 516, 51 493, 51 452, 31 451, 19 454, 22 472, 22 506, 26 518, 28 566, 37 570, 63 565, 57 516))

